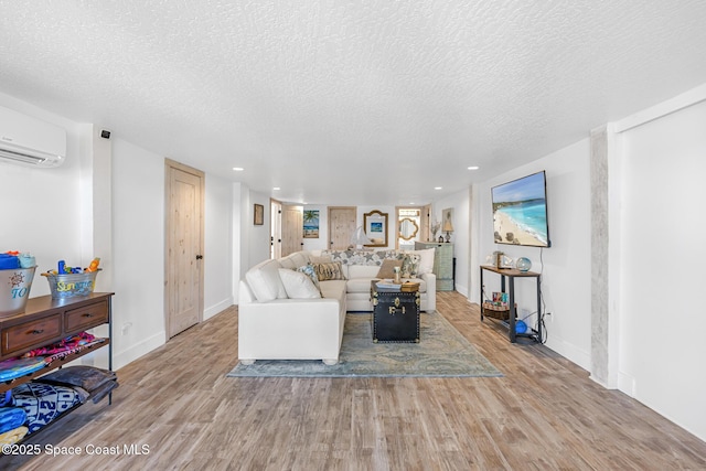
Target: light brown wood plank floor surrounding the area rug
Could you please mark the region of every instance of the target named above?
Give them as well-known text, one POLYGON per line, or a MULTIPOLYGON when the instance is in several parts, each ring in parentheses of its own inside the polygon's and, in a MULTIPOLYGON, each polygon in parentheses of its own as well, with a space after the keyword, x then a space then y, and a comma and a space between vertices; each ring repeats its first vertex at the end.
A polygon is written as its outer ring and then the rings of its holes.
POLYGON ((85 405, 29 441, 83 456, 0 469, 706 469, 705 442, 545 346, 510 344, 462 296, 440 292, 438 309, 504 377, 229 378, 232 308, 119 370, 111 406, 85 405), (130 445, 149 453, 85 454, 130 445))

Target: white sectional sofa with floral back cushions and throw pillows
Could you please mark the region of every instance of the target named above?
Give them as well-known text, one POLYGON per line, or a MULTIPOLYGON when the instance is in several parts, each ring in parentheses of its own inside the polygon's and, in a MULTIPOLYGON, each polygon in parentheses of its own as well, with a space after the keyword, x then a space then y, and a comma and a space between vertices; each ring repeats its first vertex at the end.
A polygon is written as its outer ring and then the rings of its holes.
MULTIPOLYGON (((421 271, 413 279, 419 282, 422 311, 436 309, 434 249, 429 250, 411 253, 421 258, 411 269, 421 271)), ((257 360, 338 363, 345 313, 372 311, 371 281, 377 278, 381 267, 387 265, 384 260, 400 259, 405 255, 409 254, 304 250, 257 264, 239 283, 239 361, 244 364, 257 360), (320 269, 315 278, 321 280, 315 290, 310 274, 302 272, 312 269, 320 269)), ((405 261, 409 260, 407 257, 405 261)))

